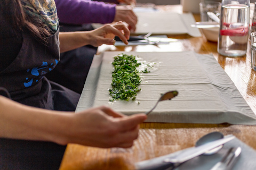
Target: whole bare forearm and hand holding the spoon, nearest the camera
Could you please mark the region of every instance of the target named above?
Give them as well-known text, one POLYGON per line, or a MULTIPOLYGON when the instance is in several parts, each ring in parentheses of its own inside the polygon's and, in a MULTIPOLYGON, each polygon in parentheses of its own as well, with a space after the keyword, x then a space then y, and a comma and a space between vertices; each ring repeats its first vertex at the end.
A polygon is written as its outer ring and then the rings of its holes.
POLYGON ((0 137, 92 147, 131 147, 145 114, 124 116, 102 106, 58 112, 25 106, 0 96, 0 137))

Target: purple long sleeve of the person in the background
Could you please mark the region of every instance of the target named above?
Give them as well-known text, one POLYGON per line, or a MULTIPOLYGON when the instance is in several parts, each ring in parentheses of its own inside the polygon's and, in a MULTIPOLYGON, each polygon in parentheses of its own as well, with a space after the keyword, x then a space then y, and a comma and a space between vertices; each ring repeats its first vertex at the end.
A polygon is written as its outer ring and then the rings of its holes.
POLYGON ((111 23, 114 21, 116 13, 115 4, 97 1, 55 0, 55 4, 59 20, 62 23, 111 23))

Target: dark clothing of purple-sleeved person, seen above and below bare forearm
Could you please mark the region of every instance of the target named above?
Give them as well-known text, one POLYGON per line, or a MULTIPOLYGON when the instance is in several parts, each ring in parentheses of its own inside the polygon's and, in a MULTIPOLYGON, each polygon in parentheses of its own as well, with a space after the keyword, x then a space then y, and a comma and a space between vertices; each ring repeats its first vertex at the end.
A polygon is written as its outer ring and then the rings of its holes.
MULTIPOLYGON (((91 24, 72 25, 60 23, 61 32, 90 31, 92 29, 91 24)), ((53 71, 46 75, 47 79, 81 94, 97 49, 97 47, 86 45, 61 53, 60 62, 53 71)))

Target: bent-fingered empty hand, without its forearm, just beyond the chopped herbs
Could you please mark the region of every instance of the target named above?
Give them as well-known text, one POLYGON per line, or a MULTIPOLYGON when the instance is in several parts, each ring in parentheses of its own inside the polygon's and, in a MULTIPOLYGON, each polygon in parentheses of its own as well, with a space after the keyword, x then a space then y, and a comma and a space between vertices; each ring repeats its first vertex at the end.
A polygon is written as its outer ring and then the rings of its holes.
POLYGON ((130 37, 130 31, 127 28, 126 24, 119 21, 114 25, 105 24, 102 27, 88 31, 90 45, 94 47, 101 46, 102 44, 114 45, 115 36, 118 36, 124 44, 128 44, 127 39, 130 37))

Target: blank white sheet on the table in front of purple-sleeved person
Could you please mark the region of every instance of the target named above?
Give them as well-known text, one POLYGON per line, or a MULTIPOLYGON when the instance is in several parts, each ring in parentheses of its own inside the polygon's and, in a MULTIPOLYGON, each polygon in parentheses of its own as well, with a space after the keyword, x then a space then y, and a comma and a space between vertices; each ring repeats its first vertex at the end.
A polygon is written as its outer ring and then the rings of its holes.
MULTIPOLYGON (((192 13, 173 13, 173 12, 138 12, 138 23, 134 33, 138 35, 152 32, 154 35, 182 35, 188 34, 193 37, 201 37, 201 32, 196 27, 192 13)), ((99 28, 102 24, 93 23, 93 28, 99 28)))

